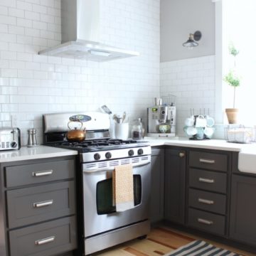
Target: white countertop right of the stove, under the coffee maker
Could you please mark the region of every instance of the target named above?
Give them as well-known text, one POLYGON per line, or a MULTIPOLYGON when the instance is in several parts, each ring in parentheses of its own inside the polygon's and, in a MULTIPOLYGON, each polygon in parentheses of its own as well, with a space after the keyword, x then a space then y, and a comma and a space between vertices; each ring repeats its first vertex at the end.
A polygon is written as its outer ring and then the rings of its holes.
POLYGON ((160 139, 145 137, 144 141, 149 142, 151 146, 187 146, 199 149, 217 149, 225 151, 255 151, 256 144, 239 144, 226 142, 224 139, 206 139, 206 140, 189 140, 186 137, 174 139, 160 139))

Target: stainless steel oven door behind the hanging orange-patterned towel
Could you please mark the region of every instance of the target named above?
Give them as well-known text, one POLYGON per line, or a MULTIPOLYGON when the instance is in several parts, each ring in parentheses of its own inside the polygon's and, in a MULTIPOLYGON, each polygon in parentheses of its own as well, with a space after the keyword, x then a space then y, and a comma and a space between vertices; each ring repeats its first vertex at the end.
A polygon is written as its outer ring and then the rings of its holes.
POLYGON ((151 156, 82 164, 85 238, 138 223, 149 218, 151 156), (116 212, 112 206, 112 171, 114 165, 132 164, 134 208, 116 212))

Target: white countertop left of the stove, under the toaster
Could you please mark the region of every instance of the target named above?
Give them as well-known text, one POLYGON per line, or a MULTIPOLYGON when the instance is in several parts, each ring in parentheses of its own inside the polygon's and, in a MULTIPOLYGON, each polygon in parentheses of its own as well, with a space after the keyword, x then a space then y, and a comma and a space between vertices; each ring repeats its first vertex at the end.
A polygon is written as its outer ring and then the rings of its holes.
POLYGON ((59 149, 52 146, 21 146, 18 150, 0 151, 0 163, 8 161, 22 161, 31 159, 44 159, 56 156, 72 156, 77 155, 78 151, 59 149))

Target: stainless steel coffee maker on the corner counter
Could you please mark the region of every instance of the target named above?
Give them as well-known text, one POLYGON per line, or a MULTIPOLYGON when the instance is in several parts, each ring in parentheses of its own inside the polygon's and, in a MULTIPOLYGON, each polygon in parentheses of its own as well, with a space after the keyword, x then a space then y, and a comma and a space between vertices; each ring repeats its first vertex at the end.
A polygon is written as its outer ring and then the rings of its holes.
POLYGON ((147 136, 175 137, 176 107, 156 105, 147 108, 147 136))

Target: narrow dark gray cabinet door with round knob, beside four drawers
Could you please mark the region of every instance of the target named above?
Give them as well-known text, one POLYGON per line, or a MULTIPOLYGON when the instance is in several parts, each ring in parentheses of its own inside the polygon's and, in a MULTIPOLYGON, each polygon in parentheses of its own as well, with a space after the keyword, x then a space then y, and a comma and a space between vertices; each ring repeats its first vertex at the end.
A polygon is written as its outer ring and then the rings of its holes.
POLYGON ((186 151, 166 149, 164 171, 164 218, 185 223, 186 151))

